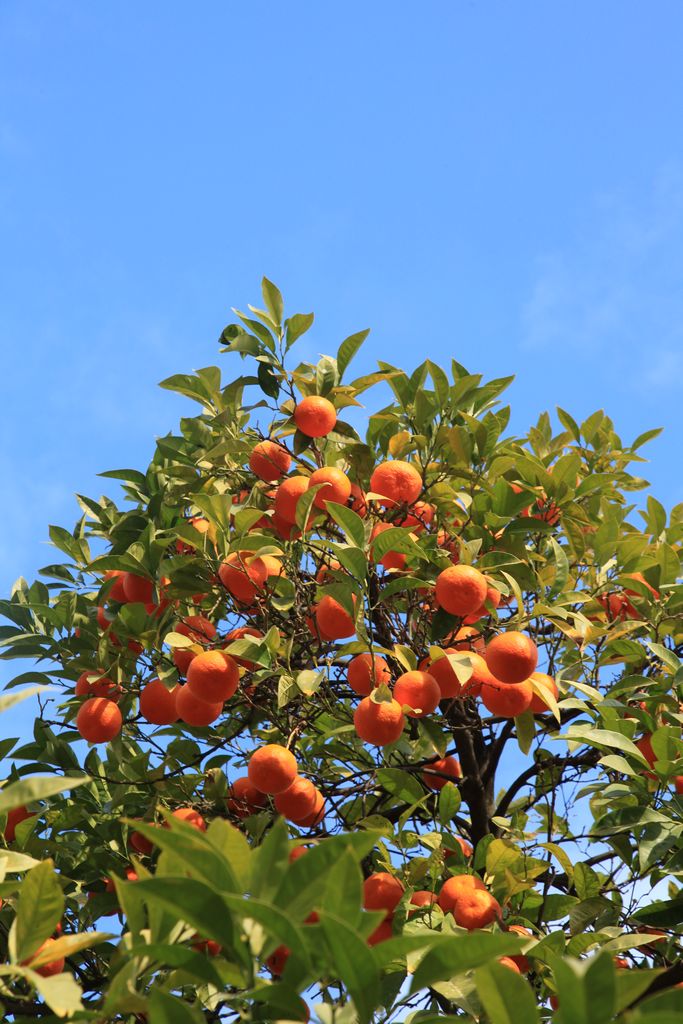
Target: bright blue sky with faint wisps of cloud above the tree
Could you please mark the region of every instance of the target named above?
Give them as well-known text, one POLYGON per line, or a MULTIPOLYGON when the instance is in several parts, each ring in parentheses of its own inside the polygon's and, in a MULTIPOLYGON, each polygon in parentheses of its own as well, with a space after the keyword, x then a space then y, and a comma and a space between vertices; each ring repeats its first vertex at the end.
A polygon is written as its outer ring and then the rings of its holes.
POLYGON ((186 411, 159 380, 234 372, 262 273, 311 355, 372 327, 359 371, 516 373, 518 430, 665 426, 646 475, 682 501, 682 30, 671 0, 3 0, 0 589, 146 464, 186 411))

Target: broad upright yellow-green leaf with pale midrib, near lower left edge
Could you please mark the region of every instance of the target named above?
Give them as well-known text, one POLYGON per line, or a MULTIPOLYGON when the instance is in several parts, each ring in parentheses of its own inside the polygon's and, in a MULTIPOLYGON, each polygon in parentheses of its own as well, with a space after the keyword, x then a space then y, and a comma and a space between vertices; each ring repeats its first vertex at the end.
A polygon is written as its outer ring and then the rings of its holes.
POLYGON ((29 959, 61 920, 65 897, 52 860, 43 860, 27 874, 10 932, 12 959, 29 959))

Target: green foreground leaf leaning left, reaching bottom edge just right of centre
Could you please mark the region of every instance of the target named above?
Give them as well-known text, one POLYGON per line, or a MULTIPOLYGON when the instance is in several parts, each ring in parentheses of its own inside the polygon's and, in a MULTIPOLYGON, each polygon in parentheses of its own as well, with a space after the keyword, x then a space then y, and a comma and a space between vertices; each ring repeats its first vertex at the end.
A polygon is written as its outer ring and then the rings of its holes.
POLYGON ((380 1000, 379 970, 372 950, 355 929, 342 918, 323 910, 321 925, 335 966, 335 974, 353 999, 358 1024, 370 1024, 380 1000))

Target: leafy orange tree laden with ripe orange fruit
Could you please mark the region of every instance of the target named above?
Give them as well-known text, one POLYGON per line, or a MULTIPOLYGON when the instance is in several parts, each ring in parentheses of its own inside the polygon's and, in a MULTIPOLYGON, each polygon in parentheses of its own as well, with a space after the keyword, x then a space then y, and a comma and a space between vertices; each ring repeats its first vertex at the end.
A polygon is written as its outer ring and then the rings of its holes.
POLYGON ((668 1024, 683 1013, 683 509, 601 412, 294 365, 238 313, 199 415, 1 611, 13 1021, 668 1024), (386 403, 345 418, 380 385, 386 403), (351 416, 359 422, 362 414, 351 416))

